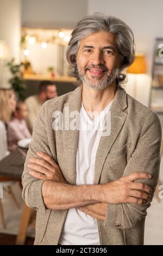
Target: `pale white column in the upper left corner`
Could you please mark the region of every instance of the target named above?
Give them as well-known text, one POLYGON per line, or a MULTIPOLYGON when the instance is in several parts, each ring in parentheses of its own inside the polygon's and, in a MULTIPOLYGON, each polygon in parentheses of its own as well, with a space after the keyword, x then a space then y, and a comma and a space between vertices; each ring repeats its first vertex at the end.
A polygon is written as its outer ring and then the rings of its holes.
POLYGON ((20 62, 21 0, 0 0, 0 41, 8 48, 8 58, 0 59, 0 87, 8 86, 9 71, 4 64, 11 58, 20 62))

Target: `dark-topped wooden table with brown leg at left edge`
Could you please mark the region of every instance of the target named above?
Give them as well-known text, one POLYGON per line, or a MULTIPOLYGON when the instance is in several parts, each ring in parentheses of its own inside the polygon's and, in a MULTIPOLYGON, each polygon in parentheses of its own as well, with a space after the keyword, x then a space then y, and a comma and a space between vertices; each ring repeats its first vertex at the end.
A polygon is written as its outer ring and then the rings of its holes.
MULTIPOLYGON (((21 184, 21 176, 24 169, 24 162, 26 160, 27 151, 27 149, 22 148, 17 148, 11 151, 9 156, 0 161, 0 175, 5 178, 17 180, 21 184)), ((30 209, 26 203, 23 204, 23 211, 16 238, 16 245, 24 245, 27 228, 33 212, 34 210, 30 209)))

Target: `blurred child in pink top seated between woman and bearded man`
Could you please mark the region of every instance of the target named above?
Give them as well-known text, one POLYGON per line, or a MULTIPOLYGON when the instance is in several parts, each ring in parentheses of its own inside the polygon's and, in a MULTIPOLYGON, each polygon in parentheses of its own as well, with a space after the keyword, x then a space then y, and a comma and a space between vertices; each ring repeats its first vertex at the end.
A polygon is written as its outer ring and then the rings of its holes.
POLYGON ((31 138, 31 134, 26 124, 26 117, 28 115, 28 109, 26 103, 18 101, 16 110, 12 114, 12 118, 8 124, 8 148, 13 150, 17 148, 17 142, 20 139, 31 138))

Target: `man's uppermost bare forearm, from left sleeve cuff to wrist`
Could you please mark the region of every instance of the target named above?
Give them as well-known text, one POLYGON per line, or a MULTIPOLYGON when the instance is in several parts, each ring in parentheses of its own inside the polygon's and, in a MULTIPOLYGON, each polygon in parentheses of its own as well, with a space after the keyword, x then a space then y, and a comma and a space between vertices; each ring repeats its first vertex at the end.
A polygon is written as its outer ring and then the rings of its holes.
POLYGON ((45 180, 42 185, 43 202, 47 209, 70 209, 100 202, 102 185, 70 185, 45 180))

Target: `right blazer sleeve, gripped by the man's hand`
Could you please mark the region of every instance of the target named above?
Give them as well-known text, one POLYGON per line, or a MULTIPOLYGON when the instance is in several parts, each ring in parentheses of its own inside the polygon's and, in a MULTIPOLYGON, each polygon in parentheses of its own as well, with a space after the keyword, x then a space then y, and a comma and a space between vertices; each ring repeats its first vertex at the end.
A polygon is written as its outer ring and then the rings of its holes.
MULTIPOLYGON (((141 179, 152 187, 153 192, 158 183, 160 169, 161 124, 156 113, 151 112, 143 125, 133 155, 130 157, 123 176, 135 172, 152 174, 151 179, 141 179)), ((117 228, 132 228, 147 215, 147 208, 152 199, 143 205, 136 204, 107 204, 104 225, 114 225, 117 228)))

